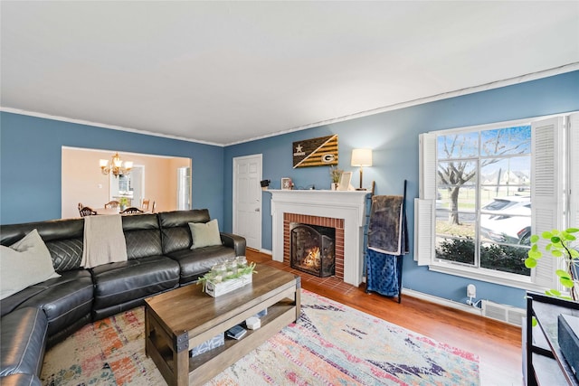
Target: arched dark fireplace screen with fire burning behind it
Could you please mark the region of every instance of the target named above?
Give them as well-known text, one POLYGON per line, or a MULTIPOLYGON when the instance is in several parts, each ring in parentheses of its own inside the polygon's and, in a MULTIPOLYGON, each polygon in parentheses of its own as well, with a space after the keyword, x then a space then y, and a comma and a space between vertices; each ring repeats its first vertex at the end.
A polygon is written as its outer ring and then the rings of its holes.
POLYGON ((289 263, 320 278, 336 273, 336 229, 292 223, 289 263))

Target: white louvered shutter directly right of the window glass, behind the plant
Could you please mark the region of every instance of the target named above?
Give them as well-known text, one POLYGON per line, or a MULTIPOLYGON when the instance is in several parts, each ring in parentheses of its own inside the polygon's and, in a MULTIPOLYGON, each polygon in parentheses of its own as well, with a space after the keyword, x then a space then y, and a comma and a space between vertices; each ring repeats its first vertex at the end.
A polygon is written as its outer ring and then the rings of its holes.
MULTIPOLYGON (((540 235, 563 226, 563 117, 533 122, 531 174, 531 224, 533 233, 540 235)), ((539 240, 539 249, 545 250, 546 240, 539 240)), ((536 285, 557 287, 555 267, 557 260, 543 253, 543 259, 533 272, 536 285)))

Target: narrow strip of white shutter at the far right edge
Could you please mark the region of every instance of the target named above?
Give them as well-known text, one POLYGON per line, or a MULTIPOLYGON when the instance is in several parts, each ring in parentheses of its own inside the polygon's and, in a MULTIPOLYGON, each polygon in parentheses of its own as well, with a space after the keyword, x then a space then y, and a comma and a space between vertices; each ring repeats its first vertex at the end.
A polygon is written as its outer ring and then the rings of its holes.
POLYGON ((579 228, 579 113, 569 116, 569 228, 579 228))

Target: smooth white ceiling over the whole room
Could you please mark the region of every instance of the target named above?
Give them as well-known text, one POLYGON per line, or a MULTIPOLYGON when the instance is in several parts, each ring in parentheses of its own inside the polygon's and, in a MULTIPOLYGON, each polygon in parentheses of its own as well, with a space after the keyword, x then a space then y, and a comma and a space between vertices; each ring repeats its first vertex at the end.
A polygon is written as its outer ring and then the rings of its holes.
POLYGON ((578 1, 2 1, 0 13, 4 110, 219 145, 579 62, 578 1))

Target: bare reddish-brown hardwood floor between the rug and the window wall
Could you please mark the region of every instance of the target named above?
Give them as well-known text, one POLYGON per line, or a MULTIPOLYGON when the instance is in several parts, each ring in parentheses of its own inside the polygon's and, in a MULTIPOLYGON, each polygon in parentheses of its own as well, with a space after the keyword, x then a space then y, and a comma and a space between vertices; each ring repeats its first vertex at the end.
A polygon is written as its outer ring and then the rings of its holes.
POLYGON ((516 326, 416 297, 403 296, 402 303, 398 304, 395 298, 366 294, 364 285, 354 287, 337 278, 316 278, 252 249, 247 249, 246 255, 250 261, 299 275, 301 287, 308 291, 479 355, 482 385, 523 384, 521 330, 516 326))

